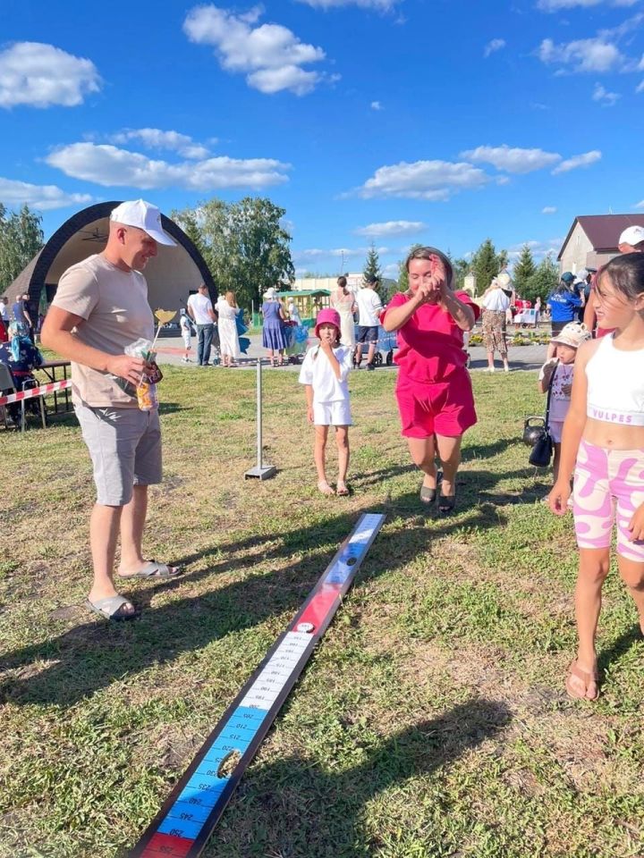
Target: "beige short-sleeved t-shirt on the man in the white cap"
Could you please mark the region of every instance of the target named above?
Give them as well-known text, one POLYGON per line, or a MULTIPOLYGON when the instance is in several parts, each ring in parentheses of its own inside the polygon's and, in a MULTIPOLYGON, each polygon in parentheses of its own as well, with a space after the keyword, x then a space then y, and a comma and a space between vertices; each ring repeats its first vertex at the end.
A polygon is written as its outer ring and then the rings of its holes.
MULTIPOLYGON (((139 271, 122 271, 100 254, 65 271, 52 304, 80 315, 84 321, 73 332, 108 355, 123 355, 131 343, 154 339, 145 277, 139 271)), ((92 408, 138 408, 136 396, 123 391, 114 375, 73 361, 72 400, 92 408)))

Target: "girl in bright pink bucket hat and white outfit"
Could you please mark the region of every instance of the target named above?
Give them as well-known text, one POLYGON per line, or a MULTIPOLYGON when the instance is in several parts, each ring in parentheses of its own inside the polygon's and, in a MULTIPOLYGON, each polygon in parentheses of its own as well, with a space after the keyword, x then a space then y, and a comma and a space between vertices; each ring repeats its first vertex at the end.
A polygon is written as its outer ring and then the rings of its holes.
POLYGON ((349 467, 349 426, 352 425, 347 377, 352 370, 352 349, 340 345, 340 314, 330 307, 316 319, 315 335, 319 345, 309 349, 300 371, 300 383, 306 385, 307 417, 315 426, 313 458, 318 471, 318 490, 323 494, 349 494, 346 473, 349 467), (326 479, 326 439, 329 426, 335 426, 338 450, 338 479, 334 489, 326 479))

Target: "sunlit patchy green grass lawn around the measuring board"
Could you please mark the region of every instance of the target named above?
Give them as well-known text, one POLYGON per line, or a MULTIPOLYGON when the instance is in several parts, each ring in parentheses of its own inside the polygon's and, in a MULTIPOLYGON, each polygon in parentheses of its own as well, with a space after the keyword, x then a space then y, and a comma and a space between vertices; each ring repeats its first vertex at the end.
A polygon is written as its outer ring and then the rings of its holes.
MULTIPOLYGON (((352 377, 352 497, 315 491, 296 376, 165 367, 165 483, 148 556, 185 562, 110 626, 89 589, 89 459, 73 417, 7 433, 0 499, 0 854, 126 854, 362 511, 386 524, 205 854, 626 858, 644 854, 644 644, 618 576, 597 704, 569 701, 570 517, 540 499, 535 374, 474 375, 459 506, 419 509, 394 374, 352 377)), ((333 451, 331 451, 333 460, 333 451)), ((333 467, 331 468, 333 473, 333 467)))

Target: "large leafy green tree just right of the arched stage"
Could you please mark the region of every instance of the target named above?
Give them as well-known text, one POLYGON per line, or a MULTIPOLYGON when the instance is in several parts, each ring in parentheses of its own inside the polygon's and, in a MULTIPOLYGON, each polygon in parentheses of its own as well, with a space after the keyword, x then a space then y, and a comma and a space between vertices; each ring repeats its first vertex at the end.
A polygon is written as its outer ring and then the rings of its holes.
POLYGON ((295 279, 291 236, 280 223, 284 214, 267 198, 244 197, 236 203, 215 198, 194 211, 173 212, 173 218, 182 228, 198 231, 217 292, 233 290, 249 307, 269 286, 288 286, 295 279))

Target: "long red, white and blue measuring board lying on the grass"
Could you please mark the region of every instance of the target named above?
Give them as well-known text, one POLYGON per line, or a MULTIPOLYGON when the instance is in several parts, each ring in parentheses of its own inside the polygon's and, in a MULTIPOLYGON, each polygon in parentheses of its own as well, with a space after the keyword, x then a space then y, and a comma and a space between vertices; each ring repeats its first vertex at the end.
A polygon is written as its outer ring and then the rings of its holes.
POLYGON ((382 515, 360 516, 289 627, 225 711, 131 850, 131 858, 197 858, 201 854, 384 521, 382 515))

